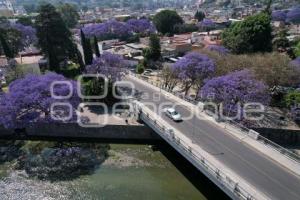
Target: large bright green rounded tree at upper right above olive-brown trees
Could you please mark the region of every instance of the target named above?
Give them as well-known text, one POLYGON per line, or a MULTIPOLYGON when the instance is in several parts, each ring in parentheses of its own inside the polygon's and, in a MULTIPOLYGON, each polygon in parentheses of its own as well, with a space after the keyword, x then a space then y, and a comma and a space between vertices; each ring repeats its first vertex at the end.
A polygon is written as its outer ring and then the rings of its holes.
POLYGON ((272 50, 271 18, 265 12, 233 23, 222 34, 223 45, 233 53, 255 53, 272 50))

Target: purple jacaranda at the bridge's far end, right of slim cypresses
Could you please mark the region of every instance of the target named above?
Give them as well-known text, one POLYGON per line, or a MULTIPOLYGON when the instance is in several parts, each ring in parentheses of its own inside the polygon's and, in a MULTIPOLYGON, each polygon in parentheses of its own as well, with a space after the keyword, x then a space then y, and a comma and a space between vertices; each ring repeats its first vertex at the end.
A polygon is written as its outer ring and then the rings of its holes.
POLYGON ((86 67, 89 74, 101 74, 110 82, 118 81, 122 78, 127 62, 122 56, 104 52, 100 57, 93 60, 93 63, 86 67))

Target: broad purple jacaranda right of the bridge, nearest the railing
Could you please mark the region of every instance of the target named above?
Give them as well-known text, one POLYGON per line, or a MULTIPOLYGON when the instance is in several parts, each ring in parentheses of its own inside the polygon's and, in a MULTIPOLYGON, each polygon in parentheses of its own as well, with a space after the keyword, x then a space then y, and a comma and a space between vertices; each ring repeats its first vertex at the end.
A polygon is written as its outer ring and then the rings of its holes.
POLYGON ((268 105, 270 97, 268 87, 255 79, 250 70, 232 72, 215 77, 205 83, 199 91, 199 97, 223 106, 223 113, 236 113, 237 105, 246 103, 261 103, 268 105))

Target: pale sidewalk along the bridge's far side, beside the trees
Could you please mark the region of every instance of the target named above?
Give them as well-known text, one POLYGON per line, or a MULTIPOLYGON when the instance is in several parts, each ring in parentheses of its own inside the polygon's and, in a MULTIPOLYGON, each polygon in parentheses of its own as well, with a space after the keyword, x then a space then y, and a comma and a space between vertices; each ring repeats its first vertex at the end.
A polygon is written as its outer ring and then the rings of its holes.
MULTIPOLYGON (((129 75, 130 78, 152 88, 153 90, 156 91, 161 91, 161 93, 166 96, 169 99, 172 99, 178 103, 180 103, 181 105, 185 106, 187 109, 189 110, 195 110, 195 109, 199 109, 198 106, 189 103, 169 92, 166 92, 165 90, 160 90, 160 88, 151 85, 150 83, 143 81, 135 76, 129 75)), ((215 119, 213 117, 210 117, 208 115, 206 115, 205 113, 200 113, 201 117, 203 118, 203 120, 207 120, 210 123, 214 124, 215 126, 218 126, 222 129, 226 129, 227 133, 234 136, 236 139, 241 140, 244 144, 254 148, 256 151, 259 151, 260 153, 262 153, 263 155, 265 155, 266 157, 268 157, 269 159, 273 160, 274 162, 276 162, 277 164, 283 166, 286 169, 289 169, 291 173, 294 173, 295 175, 297 175, 298 177, 300 177, 300 164, 297 161, 294 161, 290 158, 288 158, 287 156, 279 153, 278 151, 276 151, 275 149, 264 145, 260 142, 258 142, 257 140, 249 137, 246 134, 241 133, 240 130, 238 130, 235 127, 232 127, 231 125, 229 125, 228 123, 218 123, 215 121, 215 119)))

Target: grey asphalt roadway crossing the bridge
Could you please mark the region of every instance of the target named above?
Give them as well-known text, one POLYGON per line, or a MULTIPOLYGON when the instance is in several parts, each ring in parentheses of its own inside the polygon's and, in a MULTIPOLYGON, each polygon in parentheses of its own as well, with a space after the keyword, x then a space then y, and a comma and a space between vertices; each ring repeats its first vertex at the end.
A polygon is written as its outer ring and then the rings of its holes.
MULTIPOLYGON (((175 102, 163 95, 154 101, 153 94, 156 91, 130 78, 128 80, 134 83, 137 97, 142 103, 151 102, 158 106, 165 102, 175 102)), ((151 106, 148 107, 152 109, 151 106)), ((183 116, 190 113, 183 106, 176 106, 176 110, 183 116)), ((271 199, 300 200, 300 177, 236 139, 226 130, 196 117, 179 123, 165 115, 162 117, 271 199)))

